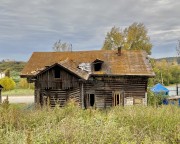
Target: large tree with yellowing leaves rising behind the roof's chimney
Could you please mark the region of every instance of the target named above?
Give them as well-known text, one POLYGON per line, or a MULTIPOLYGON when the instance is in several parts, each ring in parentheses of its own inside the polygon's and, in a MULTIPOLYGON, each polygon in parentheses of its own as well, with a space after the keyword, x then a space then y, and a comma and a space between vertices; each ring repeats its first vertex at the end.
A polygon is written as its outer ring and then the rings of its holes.
POLYGON ((151 54, 152 44, 143 23, 133 23, 124 30, 113 27, 107 33, 102 49, 113 50, 122 46, 127 50, 145 50, 151 54))

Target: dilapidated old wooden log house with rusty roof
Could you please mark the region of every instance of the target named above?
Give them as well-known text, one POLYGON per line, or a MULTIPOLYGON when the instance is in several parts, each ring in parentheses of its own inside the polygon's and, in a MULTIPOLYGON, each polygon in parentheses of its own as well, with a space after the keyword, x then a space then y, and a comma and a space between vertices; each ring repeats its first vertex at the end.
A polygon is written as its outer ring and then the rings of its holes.
POLYGON ((64 106, 69 98, 82 108, 147 103, 153 77, 144 51, 34 52, 21 77, 35 83, 35 103, 64 106))

